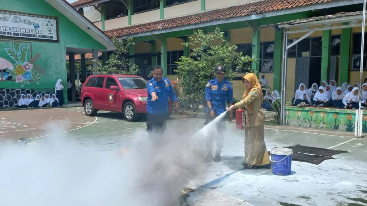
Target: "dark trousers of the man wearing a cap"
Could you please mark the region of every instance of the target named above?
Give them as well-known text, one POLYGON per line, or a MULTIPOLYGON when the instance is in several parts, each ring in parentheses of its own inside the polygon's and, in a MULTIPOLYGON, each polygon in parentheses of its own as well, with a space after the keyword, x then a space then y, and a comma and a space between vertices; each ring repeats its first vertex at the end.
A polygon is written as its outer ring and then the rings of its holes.
MULTIPOLYGON (((215 112, 215 116, 217 117, 218 114, 215 112)), ((210 116, 210 113, 207 114, 206 121, 204 125, 209 124, 215 118, 210 116)), ((226 118, 221 119, 221 121, 217 122, 217 131, 212 131, 211 134, 208 136, 207 141, 207 151, 211 152, 213 148, 213 141, 216 141, 217 148, 222 149, 224 146, 224 132, 226 130, 226 118)))

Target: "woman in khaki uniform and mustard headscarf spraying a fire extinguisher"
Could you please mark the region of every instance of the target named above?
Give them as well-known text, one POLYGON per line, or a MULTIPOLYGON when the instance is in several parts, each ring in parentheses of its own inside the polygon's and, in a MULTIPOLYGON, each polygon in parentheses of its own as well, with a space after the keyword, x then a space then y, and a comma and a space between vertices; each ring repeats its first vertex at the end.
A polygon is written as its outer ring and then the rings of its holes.
POLYGON ((256 74, 246 74, 242 78, 242 82, 246 87, 242 100, 230 106, 228 110, 246 107, 245 169, 253 169, 270 164, 264 141, 265 117, 261 108, 264 95, 256 74))

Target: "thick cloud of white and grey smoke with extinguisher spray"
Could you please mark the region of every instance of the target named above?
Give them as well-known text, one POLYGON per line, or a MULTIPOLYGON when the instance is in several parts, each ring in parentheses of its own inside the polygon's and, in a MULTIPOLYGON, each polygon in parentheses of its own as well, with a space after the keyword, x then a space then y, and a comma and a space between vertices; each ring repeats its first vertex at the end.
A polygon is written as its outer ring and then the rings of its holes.
POLYGON ((0 205, 178 205, 185 185, 206 174, 206 135, 224 115, 197 133, 167 131, 149 139, 137 132, 122 155, 81 146, 60 135, 59 124, 49 124, 47 131, 58 135, 0 148, 0 205))

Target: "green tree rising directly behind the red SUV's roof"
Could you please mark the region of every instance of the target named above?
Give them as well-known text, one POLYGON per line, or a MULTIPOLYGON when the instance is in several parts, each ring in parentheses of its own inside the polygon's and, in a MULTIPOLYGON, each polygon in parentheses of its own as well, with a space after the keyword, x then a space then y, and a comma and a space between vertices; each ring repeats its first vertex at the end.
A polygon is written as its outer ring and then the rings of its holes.
POLYGON ((138 74, 138 66, 131 64, 128 59, 129 48, 135 45, 134 40, 132 38, 119 40, 113 37, 112 41, 117 50, 109 56, 105 65, 102 65, 98 60, 93 60, 97 67, 88 66, 88 69, 99 74, 138 74))

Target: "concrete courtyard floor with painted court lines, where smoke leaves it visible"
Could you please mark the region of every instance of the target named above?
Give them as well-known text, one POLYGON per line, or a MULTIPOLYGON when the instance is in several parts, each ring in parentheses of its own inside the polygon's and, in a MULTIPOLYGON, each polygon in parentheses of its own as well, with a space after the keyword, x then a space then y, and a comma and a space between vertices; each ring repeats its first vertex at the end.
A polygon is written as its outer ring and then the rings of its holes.
MULTIPOLYGON (((86 117, 81 107, 0 111, 1 146, 12 144, 20 136, 32 138, 29 141, 47 138, 44 125, 49 122, 62 122, 67 138, 101 152, 128 148, 137 132, 146 128, 144 120, 127 122, 116 113, 99 111, 96 117, 86 117), (35 120, 34 113, 43 118, 35 120)), ((195 132, 203 123, 202 119, 173 116, 167 128, 178 133, 188 128, 195 132)), ((187 198, 190 205, 367 205, 366 139, 355 139, 350 133, 268 126, 265 129, 268 150, 301 144, 348 151, 319 165, 293 161, 292 175, 276 176, 270 169, 243 170, 244 131, 236 130, 235 122, 227 122, 227 131, 222 161, 203 162, 208 164, 206 173, 186 185, 190 188, 187 198)))

